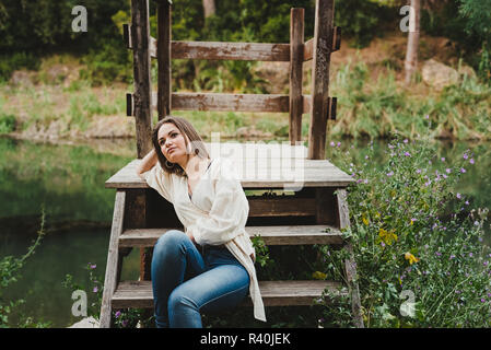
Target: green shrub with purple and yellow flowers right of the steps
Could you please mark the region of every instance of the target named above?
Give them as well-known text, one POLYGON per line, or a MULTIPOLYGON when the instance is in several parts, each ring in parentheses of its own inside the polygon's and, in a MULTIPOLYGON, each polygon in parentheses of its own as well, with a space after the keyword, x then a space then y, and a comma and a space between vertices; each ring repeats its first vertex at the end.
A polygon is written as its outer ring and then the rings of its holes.
MULTIPOLYGON (((425 140, 394 135, 382 171, 331 144, 334 162, 356 179, 348 187, 350 237, 365 327, 491 326, 491 253, 484 242, 488 209, 455 185, 475 166, 435 159, 425 140), (436 167, 436 170, 434 170, 436 167)), ((323 246, 327 278, 344 278, 343 250, 323 246)), ((351 302, 326 303, 324 327, 352 327, 351 302)))

